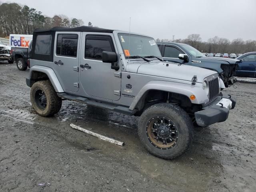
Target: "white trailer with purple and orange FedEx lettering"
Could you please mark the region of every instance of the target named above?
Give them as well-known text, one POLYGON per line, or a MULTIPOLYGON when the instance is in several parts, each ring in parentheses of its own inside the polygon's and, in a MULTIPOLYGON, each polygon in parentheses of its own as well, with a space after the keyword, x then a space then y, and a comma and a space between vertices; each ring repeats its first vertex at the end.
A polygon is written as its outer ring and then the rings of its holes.
POLYGON ((10 34, 10 47, 28 48, 33 35, 10 34))

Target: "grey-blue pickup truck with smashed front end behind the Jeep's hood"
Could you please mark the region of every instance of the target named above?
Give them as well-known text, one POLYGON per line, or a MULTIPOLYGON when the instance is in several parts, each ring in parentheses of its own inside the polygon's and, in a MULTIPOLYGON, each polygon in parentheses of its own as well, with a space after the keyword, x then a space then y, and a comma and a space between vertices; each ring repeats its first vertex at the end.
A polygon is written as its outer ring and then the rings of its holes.
POLYGON ((233 85, 236 79, 234 74, 238 63, 237 59, 222 57, 206 57, 194 47, 184 43, 157 43, 165 61, 177 62, 196 67, 202 67, 218 72, 225 87, 233 85))

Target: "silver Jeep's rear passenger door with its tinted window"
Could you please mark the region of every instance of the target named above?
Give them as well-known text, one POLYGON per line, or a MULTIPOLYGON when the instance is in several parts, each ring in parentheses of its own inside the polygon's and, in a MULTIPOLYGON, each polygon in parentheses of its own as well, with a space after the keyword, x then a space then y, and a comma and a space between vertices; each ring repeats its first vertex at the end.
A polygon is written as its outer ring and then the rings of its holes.
POLYGON ((65 91, 77 92, 79 47, 81 32, 56 32, 54 42, 54 72, 65 91))

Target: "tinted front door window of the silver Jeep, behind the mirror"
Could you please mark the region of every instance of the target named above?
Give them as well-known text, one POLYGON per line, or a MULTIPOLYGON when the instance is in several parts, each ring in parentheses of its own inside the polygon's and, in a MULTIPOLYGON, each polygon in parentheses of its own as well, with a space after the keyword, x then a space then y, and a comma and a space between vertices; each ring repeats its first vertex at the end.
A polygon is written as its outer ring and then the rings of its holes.
POLYGON ((112 40, 108 36, 86 36, 85 58, 102 60, 102 52, 114 52, 112 40))

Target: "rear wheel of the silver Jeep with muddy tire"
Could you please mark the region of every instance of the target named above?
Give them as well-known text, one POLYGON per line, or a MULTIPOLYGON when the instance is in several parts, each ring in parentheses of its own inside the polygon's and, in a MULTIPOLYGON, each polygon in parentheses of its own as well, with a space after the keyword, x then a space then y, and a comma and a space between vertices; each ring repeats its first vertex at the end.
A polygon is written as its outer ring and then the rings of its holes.
POLYGON ((60 111, 62 99, 59 98, 49 80, 35 82, 30 91, 34 110, 44 117, 53 116, 60 111))

